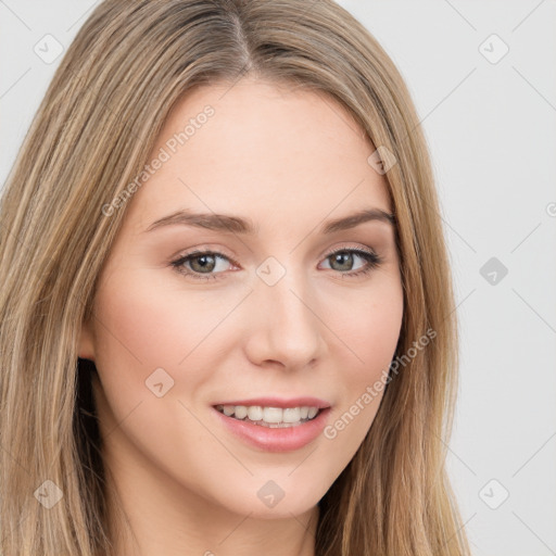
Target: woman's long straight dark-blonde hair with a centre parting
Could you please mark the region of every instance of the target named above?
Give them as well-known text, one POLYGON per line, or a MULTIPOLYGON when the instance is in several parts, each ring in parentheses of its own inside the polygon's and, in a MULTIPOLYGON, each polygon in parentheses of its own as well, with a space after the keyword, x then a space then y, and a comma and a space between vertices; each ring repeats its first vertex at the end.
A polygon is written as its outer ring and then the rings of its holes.
POLYGON ((445 469, 457 391, 452 278, 426 141, 394 64, 332 0, 106 0, 67 49, 1 199, 2 556, 113 554, 94 369, 77 357, 126 212, 102 207, 141 172, 182 94, 248 74, 328 93, 396 162, 384 177, 405 359, 319 503, 316 555, 469 554, 445 469), (45 496, 61 498, 47 507, 45 496))

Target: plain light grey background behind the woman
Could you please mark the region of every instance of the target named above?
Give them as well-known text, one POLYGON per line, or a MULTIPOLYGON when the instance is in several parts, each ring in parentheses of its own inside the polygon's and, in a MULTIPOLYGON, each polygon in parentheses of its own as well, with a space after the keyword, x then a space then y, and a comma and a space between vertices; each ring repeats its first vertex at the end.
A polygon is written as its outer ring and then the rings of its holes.
MULTIPOLYGON (((556 2, 339 3, 400 67, 431 149, 462 336, 448 468, 473 554, 556 554, 556 2)), ((60 62, 35 46, 66 47, 93 5, 0 0, 1 184, 60 62)))

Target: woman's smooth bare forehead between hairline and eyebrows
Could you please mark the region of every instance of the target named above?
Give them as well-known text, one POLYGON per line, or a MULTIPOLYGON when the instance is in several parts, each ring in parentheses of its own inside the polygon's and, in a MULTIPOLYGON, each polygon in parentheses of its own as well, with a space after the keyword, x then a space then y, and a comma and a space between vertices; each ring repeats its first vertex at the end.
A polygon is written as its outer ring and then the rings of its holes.
POLYGON ((367 162, 374 150, 321 92, 251 78, 197 87, 168 114, 149 157, 164 162, 135 193, 128 218, 144 229, 180 208, 268 225, 363 206, 390 212, 386 180, 367 162))

